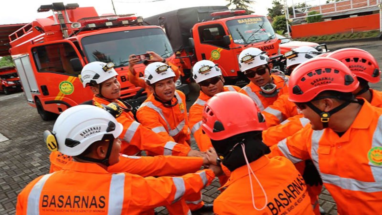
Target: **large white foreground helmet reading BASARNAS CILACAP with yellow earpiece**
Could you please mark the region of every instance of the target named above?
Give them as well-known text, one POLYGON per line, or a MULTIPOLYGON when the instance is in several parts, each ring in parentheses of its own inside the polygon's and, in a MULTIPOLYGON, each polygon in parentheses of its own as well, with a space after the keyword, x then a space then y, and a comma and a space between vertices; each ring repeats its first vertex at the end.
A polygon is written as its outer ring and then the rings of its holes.
POLYGON ((46 130, 44 139, 51 151, 60 151, 69 156, 83 153, 92 143, 111 134, 117 138, 123 125, 102 108, 92 105, 77 105, 62 112, 53 126, 46 130))

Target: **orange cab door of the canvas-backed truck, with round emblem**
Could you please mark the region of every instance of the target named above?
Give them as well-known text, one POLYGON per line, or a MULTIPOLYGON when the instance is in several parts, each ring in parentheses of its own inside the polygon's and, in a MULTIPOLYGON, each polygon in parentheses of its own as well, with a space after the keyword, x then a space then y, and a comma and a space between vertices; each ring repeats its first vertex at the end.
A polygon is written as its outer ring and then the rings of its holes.
POLYGON ((223 26, 219 23, 202 25, 193 32, 197 60, 216 62, 224 77, 236 77, 237 57, 223 41, 223 36, 228 35, 223 26))

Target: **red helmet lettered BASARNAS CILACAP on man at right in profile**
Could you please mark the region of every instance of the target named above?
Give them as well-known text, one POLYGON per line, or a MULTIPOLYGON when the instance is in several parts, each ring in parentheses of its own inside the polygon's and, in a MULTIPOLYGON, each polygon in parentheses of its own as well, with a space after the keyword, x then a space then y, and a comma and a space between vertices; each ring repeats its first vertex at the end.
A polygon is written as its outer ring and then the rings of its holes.
POLYGON ((352 92, 359 81, 339 60, 318 57, 298 65, 290 75, 289 100, 308 102, 325 90, 352 92))

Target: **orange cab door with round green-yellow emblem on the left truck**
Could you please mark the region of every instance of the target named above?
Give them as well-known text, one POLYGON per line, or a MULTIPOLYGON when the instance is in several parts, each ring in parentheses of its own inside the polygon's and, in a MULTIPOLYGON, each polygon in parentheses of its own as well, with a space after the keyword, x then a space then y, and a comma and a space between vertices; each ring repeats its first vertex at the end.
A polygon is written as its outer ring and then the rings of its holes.
POLYGON ((84 90, 70 60, 81 58, 71 41, 55 41, 37 44, 31 48, 35 76, 42 106, 46 111, 60 113, 71 106, 92 98, 90 90, 84 90))

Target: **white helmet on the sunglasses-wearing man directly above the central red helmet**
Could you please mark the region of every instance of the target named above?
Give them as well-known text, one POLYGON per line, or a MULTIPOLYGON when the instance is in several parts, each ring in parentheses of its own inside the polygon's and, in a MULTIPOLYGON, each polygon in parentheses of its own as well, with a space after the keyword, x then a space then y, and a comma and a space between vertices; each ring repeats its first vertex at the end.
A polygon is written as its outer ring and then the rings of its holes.
POLYGON ((201 60, 196 62, 192 68, 192 75, 196 83, 207 80, 209 78, 222 75, 222 70, 210 60, 201 60))

